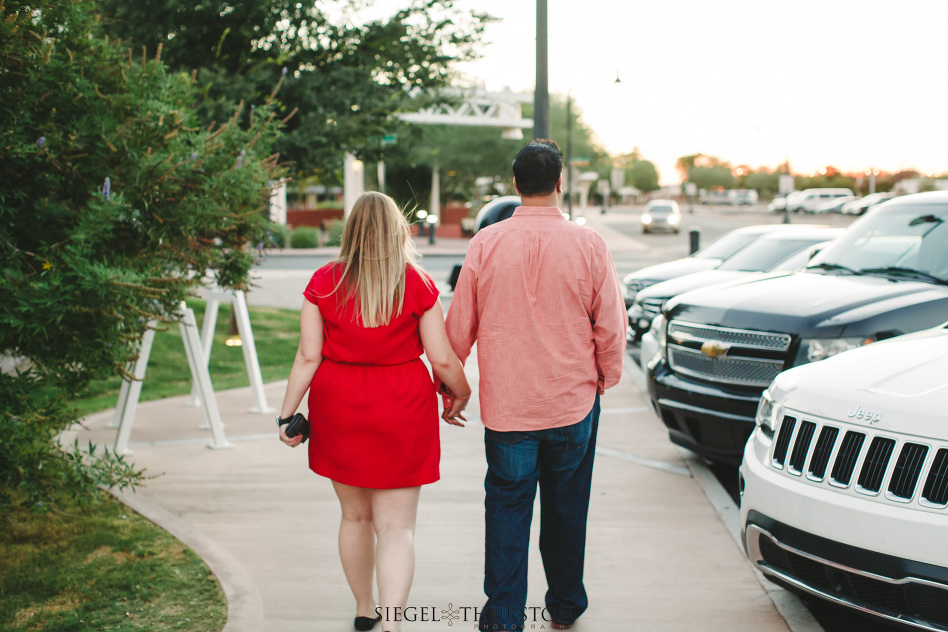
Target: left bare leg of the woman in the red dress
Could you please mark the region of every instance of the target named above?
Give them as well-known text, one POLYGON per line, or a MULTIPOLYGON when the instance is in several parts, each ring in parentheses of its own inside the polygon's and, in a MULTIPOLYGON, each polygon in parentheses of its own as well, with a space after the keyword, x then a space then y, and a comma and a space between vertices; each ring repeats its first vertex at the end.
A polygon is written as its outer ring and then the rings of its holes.
POLYGON ((356 599, 356 616, 375 617, 372 580, 375 571, 375 529, 372 525, 372 493, 376 490, 332 482, 342 522, 339 525, 339 558, 346 581, 356 599))

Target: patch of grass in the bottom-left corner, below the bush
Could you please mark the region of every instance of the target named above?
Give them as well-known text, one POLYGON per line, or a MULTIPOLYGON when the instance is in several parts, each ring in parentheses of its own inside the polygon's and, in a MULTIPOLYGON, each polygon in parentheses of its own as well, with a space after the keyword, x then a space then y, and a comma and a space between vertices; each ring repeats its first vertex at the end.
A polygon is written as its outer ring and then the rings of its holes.
POLYGON ((227 605, 210 569, 108 494, 0 521, 0 629, 215 632, 227 605))

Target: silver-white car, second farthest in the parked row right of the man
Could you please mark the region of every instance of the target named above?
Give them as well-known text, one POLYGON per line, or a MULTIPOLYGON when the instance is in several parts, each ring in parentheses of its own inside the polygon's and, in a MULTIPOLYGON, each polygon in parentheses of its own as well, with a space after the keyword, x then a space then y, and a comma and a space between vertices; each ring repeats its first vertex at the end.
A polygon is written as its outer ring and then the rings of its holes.
POLYGON ((662 313, 669 299, 718 283, 746 279, 765 272, 796 272, 809 263, 812 246, 825 244, 842 234, 842 228, 791 224, 792 228, 761 235, 716 268, 686 274, 656 283, 639 292, 629 308, 629 333, 637 342, 662 313), (797 255, 802 256, 797 256, 797 255))

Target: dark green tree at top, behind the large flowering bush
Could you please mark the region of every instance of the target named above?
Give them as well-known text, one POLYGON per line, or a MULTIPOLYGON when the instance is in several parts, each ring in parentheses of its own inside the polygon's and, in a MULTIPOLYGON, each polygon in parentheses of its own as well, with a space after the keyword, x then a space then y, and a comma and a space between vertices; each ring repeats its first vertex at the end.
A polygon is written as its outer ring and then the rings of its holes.
MULTIPOLYGON (((406 0, 407 1, 407 0, 406 0)), ((356 24, 369 0, 101 0, 112 36, 135 50, 164 47, 174 69, 206 84, 202 116, 224 120, 260 103, 287 69, 278 104, 295 111, 278 145, 302 173, 331 173, 343 151, 375 161, 408 95, 447 85, 455 61, 474 57, 490 20, 455 0, 411 0, 386 19, 356 24)))

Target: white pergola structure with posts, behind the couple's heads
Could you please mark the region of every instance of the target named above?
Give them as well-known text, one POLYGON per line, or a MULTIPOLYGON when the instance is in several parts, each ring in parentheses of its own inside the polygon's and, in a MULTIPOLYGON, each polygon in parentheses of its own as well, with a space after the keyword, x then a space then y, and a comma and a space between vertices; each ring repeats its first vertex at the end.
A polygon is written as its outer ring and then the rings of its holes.
MULTIPOLYGON (((403 121, 419 125, 469 125, 472 127, 499 127, 501 138, 520 140, 524 129, 533 127, 533 119, 525 119, 520 114, 520 104, 532 103, 533 94, 528 92, 515 93, 509 88, 501 92, 487 92, 486 90, 448 90, 440 94, 449 97, 450 102, 439 102, 417 112, 404 112, 396 115, 403 121)), ((364 189, 362 165, 350 166, 353 161, 345 163, 344 177, 345 190, 361 191, 364 189), (351 184, 350 184, 351 183, 351 184)), ((384 168, 379 169, 384 173, 384 168)), ((358 194, 355 196, 358 197, 358 194)), ((346 199, 345 212, 349 215, 355 197, 346 199)), ((431 198, 429 213, 439 215, 441 209, 440 174, 435 165, 431 173, 431 198)))

